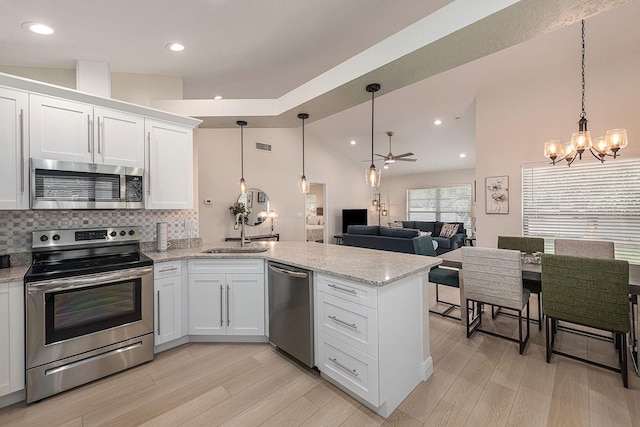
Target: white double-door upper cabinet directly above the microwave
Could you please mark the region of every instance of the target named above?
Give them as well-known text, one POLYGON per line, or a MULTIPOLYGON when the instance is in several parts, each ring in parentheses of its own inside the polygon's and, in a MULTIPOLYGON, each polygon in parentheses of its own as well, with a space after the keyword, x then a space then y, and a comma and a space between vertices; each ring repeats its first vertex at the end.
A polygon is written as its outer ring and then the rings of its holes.
POLYGON ((31 157, 144 167, 144 118, 30 95, 31 157))

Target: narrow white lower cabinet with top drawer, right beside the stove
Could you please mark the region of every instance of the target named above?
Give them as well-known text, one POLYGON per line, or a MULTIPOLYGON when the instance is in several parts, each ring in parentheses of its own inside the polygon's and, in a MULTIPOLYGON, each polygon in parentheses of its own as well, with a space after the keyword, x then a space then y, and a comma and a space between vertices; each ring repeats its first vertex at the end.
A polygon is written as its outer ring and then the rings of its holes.
POLYGON ((154 344, 182 337, 182 264, 181 261, 153 266, 154 344))

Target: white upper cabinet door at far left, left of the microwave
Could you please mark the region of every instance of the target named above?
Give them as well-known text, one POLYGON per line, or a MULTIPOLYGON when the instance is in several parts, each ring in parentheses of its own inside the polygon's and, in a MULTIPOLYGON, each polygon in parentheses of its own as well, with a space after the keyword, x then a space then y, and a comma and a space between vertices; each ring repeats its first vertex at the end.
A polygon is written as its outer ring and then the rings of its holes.
POLYGON ((0 209, 29 208, 28 97, 0 88, 0 209))

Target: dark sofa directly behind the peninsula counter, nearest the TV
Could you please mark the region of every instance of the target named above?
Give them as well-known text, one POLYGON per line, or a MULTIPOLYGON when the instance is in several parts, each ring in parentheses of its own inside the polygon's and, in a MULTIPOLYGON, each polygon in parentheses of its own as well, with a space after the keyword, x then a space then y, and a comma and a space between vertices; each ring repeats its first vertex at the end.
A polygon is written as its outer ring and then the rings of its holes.
POLYGON ((350 225, 342 235, 342 242, 346 246, 435 256, 431 236, 407 228, 350 225))

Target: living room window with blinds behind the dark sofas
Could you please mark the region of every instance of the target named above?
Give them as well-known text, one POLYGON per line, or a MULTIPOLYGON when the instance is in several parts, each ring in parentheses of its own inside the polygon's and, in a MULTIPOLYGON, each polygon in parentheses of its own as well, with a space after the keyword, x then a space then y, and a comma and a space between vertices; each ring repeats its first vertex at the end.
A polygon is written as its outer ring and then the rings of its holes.
POLYGON ((407 190, 409 221, 464 222, 471 230, 471 185, 407 190))

